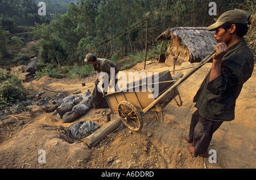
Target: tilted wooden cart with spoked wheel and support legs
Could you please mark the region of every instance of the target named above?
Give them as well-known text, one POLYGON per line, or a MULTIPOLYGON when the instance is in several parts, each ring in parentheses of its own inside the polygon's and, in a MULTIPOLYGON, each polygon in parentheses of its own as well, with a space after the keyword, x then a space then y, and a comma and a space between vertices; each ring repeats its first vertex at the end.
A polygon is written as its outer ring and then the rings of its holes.
MULTIPOLYGON (((179 74, 179 78, 183 76, 182 73, 177 74, 179 74)), ((146 83, 146 91, 145 89, 142 91, 142 86, 145 85, 142 82, 147 82, 148 77, 146 77, 146 81, 143 81, 145 80, 144 78, 140 79, 139 83, 138 81, 134 81, 132 82, 133 86, 129 86, 129 89, 126 89, 125 91, 122 90, 121 92, 106 94, 106 102, 108 103, 112 113, 118 114, 122 122, 128 128, 133 131, 139 131, 143 127, 141 112, 146 113, 147 111, 155 111, 156 118, 159 122, 162 122, 163 108, 166 107, 167 104, 177 96, 179 97, 180 103, 178 103, 176 99, 175 101, 178 106, 182 106, 180 94, 176 87, 172 91, 160 97, 160 95, 162 95, 166 90, 170 89, 170 87, 179 79, 175 78, 175 76, 173 78, 169 70, 159 73, 158 77, 155 75, 150 76, 150 78, 152 78, 152 82, 151 85, 146 83), (137 84, 139 85, 135 86, 137 84), (153 97, 154 88, 152 88, 152 85, 158 85, 159 87, 159 94, 155 98, 149 98, 149 95, 153 97)))

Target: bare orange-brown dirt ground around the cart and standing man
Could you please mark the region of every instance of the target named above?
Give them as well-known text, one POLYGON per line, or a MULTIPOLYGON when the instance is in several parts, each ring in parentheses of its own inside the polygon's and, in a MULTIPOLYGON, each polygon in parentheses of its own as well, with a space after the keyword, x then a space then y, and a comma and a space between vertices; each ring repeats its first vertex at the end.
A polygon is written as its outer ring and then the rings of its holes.
MULTIPOLYGON (((46 113, 42 107, 32 106, 31 112, 19 114, 26 118, 15 116, 23 119, 24 125, 14 127, 15 123, 0 124, 0 168, 256 168, 255 70, 237 99, 236 119, 224 122, 213 135, 209 150, 216 150, 217 163, 210 163, 208 158, 193 157, 186 149, 188 143, 181 138, 181 135, 188 133, 191 115, 195 111, 193 95, 210 66, 211 64, 203 66, 181 83, 179 91, 183 106, 177 107, 174 101, 168 104, 164 108, 163 122, 157 122, 155 116, 147 112, 142 116, 144 125, 141 131, 119 128, 95 148, 88 148, 79 142, 70 144, 61 139, 57 131, 43 129, 43 124, 63 125, 67 128, 75 122, 64 124, 62 119, 46 113), (46 163, 43 164, 38 162, 40 149, 46 152, 46 163)), ((172 70, 172 67, 155 62, 146 66, 146 71, 163 72, 167 69, 172 70)), ((188 71, 182 72, 185 74, 188 71)), ((84 93, 87 89, 92 90, 93 79, 94 77, 73 80, 43 77, 39 81, 25 83, 24 86, 34 94, 44 90, 44 96, 53 96, 57 92, 84 93), (81 86, 82 82, 86 86, 81 86)), ((106 123, 106 117, 102 118, 101 114, 104 110, 89 110, 79 120, 95 120, 102 126, 106 123)), ((11 117, 5 122, 10 119, 11 117)))

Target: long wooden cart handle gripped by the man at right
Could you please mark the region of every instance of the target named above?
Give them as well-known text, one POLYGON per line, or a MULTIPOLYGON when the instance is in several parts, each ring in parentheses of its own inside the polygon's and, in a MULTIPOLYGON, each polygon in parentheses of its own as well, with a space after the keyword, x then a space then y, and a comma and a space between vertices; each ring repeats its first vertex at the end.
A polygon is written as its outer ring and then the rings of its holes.
POLYGON ((175 82, 174 85, 172 85, 168 90, 166 90, 160 97, 155 99, 151 104, 149 104, 146 108, 144 108, 142 111, 145 113, 148 110, 150 110, 152 107, 155 106, 156 103, 158 103, 162 98, 164 98, 165 95, 170 93, 172 90, 174 90, 177 86, 181 84, 181 82, 185 81, 189 76, 191 76, 193 73, 195 73, 199 68, 201 68, 202 65, 210 61, 210 59, 216 54, 215 50, 210 53, 207 57, 205 57, 199 64, 197 64, 193 69, 191 69, 187 74, 185 74, 182 78, 179 79, 179 81, 175 82))

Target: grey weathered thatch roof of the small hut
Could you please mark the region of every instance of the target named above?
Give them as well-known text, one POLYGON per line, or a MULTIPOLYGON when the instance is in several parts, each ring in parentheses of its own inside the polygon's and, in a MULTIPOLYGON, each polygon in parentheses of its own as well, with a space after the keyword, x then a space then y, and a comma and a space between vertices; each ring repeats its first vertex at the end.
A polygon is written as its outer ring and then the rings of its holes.
POLYGON ((205 27, 168 28, 157 37, 157 40, 172 40, 175 36, 179 37, 187 46, 191 58, 203 59, 217 45, 214 39, 214 31, 207 31, 205 27))

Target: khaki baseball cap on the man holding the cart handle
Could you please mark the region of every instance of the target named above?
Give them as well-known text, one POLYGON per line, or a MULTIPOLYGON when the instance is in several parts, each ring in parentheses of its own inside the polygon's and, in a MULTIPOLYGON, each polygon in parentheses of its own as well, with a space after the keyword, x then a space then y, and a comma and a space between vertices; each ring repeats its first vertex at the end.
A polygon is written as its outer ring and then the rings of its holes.
POLYGON ((250 14, 245 10, 234 9, 226 11, 220 15, 217 22, 207 27, 209 31, 216 31, 216 29, 222 26, 224 23, 241 23, 250 24, 250 14))

